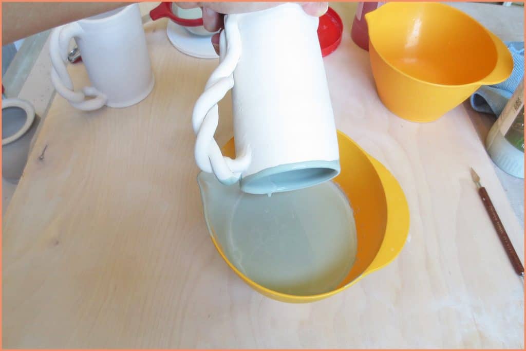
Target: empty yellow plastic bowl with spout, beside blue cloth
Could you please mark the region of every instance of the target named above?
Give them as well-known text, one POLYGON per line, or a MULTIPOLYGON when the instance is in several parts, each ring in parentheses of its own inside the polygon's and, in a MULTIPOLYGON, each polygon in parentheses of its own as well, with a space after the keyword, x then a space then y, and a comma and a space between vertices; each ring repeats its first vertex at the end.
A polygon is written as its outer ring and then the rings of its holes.
POLYGON ((378 95, 408 121, 435 121, 513 69, 504 43, 451 6, 393 2, 365 17, 378 95))

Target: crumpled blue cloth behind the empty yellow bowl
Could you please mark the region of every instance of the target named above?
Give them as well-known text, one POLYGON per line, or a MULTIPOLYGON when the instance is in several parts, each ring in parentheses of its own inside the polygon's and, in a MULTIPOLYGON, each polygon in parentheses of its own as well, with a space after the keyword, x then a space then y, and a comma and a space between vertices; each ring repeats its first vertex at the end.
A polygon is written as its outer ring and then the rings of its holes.
POLYGON ((471 107, 475 111, 499 116, 524 79, 524 42, 504 42, 513 57, 513 71, 508 79, 495 85, 483 85, 471 95, 471 107))

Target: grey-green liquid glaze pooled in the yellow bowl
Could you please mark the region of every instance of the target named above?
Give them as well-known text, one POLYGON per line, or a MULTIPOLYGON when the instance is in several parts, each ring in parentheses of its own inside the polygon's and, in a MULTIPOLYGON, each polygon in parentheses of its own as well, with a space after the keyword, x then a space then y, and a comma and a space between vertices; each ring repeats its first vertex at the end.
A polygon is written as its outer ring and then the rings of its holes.
MULTIPOLYGON (((212 176, 213 177, 213 176, 212 176)), ((267 195, 245 194, 199 175, 209 227, 225 255, 254 282, 314 295, 336 288, 355 262, 356 225, 332 182, 267 195)))

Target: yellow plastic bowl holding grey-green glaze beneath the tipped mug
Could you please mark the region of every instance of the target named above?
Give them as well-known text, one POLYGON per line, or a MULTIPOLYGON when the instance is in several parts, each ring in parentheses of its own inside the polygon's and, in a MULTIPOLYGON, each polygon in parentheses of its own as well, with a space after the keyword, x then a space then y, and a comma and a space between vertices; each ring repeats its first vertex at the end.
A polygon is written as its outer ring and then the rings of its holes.
MULTIPOLYGON (((334 180, 355 209, 358 247, 355 264, 336 289, 318 295, 297 296, 276 292, 257 284, 229 261, 207 219, 210 236, 221 257, 241 279, 265 296, 289 303, 307 303, 332 296, 390 263, 406 242, 409 209, 397 180, 376 159, 341 132, 338 132, 338 144, 341 172, 334 180)), ((229 157, 235 156, 233 138, 222 148, 222 153, 229 157)))

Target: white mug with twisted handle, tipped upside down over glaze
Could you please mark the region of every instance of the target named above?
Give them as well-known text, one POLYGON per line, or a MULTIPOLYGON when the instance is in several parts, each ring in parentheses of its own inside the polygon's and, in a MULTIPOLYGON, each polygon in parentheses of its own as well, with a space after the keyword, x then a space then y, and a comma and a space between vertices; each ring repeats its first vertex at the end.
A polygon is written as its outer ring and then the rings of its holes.
POLYGON ((338 141, 317 35, 298 4, 225 16, 220 64, 193 112, 195 158, 223 184, 270 194, 340 172, 338 141), (233 88, 232 88, 233 87, 233 88), (232 88, 235 159, 214 140, 217 102, 232 88))

